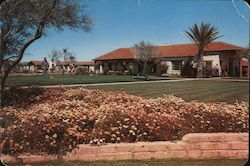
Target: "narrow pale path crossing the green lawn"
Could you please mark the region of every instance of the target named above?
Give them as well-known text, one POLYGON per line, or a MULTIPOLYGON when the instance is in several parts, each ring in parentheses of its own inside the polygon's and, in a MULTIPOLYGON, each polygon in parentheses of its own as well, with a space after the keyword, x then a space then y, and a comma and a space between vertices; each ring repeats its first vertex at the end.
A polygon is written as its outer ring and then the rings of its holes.
MULTIPOLYGON (((112 82, 112 83, 96 83, 96 84, 45 85, 45 86, 38 86, 38 87, 40 88, 71 88, 71 87, 90 87, 90 86, 107 86, 107 85, 131 85, 131 84, 151 84, 151 83, 164 83, 164 82, 183 82, 183 81, 195 81, 195 80, 222 80, 222 81, 237 81, 237 82, 249 81, 249 80, 222 79, 220 77, 213 77, 213 78, 178 78, 178 79, 172 79, 172 80, 112 82)), ((29 87, 30 86, 23 86, 23 88, 29 88, 29 87)))

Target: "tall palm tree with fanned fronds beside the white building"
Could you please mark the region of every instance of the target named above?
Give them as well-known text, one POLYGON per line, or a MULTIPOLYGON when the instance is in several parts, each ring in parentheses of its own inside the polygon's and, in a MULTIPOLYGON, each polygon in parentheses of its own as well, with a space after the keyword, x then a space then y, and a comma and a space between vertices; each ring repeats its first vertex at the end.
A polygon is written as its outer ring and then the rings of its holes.
POLYGON ((218 39, 219 32, 217 28, 211 26, 210 24, 201 23, 199 26, 194 24, 189 28, 189 31, 185 31, 187 37, 197 46, 198 55, 197 55, 197 78, 203 77, 203 54, 204 49, 211 42, 218 39))

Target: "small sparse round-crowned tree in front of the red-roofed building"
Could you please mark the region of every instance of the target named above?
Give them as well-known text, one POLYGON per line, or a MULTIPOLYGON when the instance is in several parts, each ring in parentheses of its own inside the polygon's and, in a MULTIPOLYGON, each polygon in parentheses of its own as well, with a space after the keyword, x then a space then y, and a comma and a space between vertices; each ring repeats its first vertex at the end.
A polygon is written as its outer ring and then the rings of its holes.
POLYGON ((149 62, 152 62, 155 58, 156 49, 152 44, 141 41, 133 46, 133 50, 135 58, 142 66, 142 73, 145 77, 145 80, 148 80, 149 62))

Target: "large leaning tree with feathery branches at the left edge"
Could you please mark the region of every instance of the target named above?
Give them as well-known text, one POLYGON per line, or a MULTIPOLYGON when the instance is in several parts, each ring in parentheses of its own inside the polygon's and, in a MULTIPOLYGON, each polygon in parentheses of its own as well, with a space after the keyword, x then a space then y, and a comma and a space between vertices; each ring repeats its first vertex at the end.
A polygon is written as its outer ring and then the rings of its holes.
POLYGON ((90 31, 93 20, 85 14, 85 4, 77 0, 6 0, 0 10, 1 92, 12 69, 25 50, 46 34, 65 28, 90 31), (9 65, 5 65, 6 62, 9 65))

